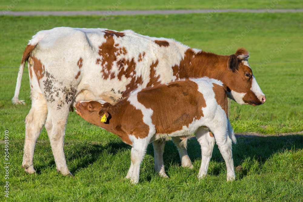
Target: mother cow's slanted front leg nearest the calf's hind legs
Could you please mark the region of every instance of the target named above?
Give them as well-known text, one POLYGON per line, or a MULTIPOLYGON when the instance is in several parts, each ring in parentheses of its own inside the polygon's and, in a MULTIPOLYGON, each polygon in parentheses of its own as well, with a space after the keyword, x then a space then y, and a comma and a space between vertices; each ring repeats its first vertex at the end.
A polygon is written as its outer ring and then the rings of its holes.
POLYGON ((172 141, 178 148, 182 167, 193 168, 194 166, 192 165, 191 160, 185 148, 187 138, 188 137, 171 137, 172 141))

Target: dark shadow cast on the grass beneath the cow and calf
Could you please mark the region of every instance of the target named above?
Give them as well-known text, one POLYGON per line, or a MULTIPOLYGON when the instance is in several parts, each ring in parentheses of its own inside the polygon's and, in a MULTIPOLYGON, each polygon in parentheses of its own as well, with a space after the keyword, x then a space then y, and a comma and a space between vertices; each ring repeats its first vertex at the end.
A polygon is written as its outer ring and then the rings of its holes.
MULTIPOLYGON (((38 144, 36 147, 45 146, 47 147, 45 151, 52 154, 51 148, 48 144, 38 144)), ((98 158, 102 157, 104 153, 110 155, 125 155, 125 150, 130 150, 131 146, 123 143, 120 140, 114 140, 107 144, 99 144, 94 142, 78 142, 78 141, 67 141, 65 143, 65 156, 67 162, 73 162, 72 167, 69 166, 72 174, 77 173, 77 171, 87 168, 90 164, 93 164, 98 158)), ((241 136, 237 138, 237 144, 233 144, 233 159, 235 171, 238 172, 240 179, 247 175, 247 171, 241 170, 241 163, 246 158, 251 158, 251 160, 256 160, 260 164, 264 164, 271 155, 282 152, 285 150, 296 150, 303 149, 303 135, 287 135, 287 136, 241 136), (240 167, 240 168, 239 168, 240 167)), ((154 150, 152 144, 148 145, 147 153, 154 156, 154 150)), ((39 155, 39 154, 36 154, 39 155)), ((193 163, 196 161, 201 161, 201 149, 198 141, 196 139, 188 140, 188 155, 193 163)), ((51 155, 52 156, 52 155, 51 155)), ((48 159, 40 165, 36 165, 35 169, 37 174, 48 167, 55 167, 55 161, 53 157, 48 154, 48 157, 43 157, 48 159)), ((177 147, 172 141, 166 141, 165 150, 163 154, 163 160, 165 165, 165 170, 172 165, 180 165, 181 161, 178 154, 177 147)), ((212 167, 209 174, 219 175, 221 172, 226 172, 225 162, 222 158, 218 146, 215 145, 212 154, 211 161, 215 161, 221 164, 216 164, 212 167)), ((34 162, 35 164, 35 162, 34 162)), ((199 165, 200 166, 200 165, 199 165)), ((198 170, 198 168, 195 168, 198 170)))

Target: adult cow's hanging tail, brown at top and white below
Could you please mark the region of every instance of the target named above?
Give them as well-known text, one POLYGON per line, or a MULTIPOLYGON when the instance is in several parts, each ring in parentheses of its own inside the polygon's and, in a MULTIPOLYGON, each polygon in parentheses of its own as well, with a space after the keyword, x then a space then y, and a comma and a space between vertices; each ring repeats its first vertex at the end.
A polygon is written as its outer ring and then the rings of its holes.
POLYGON ((25 67, 25 63, 28 60, 29 55, 31 54, 34 47, 35 47, 34 45, 27 45, 27 47, 25 48, 25 51, 23 53, 22 60, 21 60, 21 65, 19 67, 19 72, 18 72, 15 95, 12 99, 13 104, 25 104, 24 100, 19 100, 18 96, 19 96, 19 92, 20 92, 21 79, 22 79, 22 74, 23 74, 23 70, 24 70, 24 67, 25 67))

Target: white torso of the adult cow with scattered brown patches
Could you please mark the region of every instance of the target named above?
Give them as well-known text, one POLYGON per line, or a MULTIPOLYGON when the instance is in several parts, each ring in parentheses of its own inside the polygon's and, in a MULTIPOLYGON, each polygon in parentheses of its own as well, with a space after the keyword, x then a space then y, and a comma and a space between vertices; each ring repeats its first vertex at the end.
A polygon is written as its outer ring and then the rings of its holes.
POLYGON ((40 31, 29 44, 35 45, 32 55, 42 64, 40 88, 45 81, 58 89, 72 87, 72 104, 100 99, 115 103, 137 88, 174 81, 172 67, 187 49, 171 39, 100 28, 40 31))

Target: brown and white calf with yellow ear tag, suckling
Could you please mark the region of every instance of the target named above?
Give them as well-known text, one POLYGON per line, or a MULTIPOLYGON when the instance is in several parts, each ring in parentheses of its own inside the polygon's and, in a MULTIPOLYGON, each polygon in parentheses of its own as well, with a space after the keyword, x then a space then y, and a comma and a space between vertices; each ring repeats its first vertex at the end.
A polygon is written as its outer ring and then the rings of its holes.
POLYGON ((221 81, 209 78, 174 81, 136 90, 115 105, 79 101, 75 107, 76 113, 86 121, 118 135, 132 146, 126 178, 131 178, 133 183, 139 181, 140 164, 149 143, 166 136, 193 133, 201 144, 198 177, 205 176, 215 144, 209 138, 208 128, 225 160, 227 180, 235 179, 231 141, 235 143, 236 139, 227 117, 226 87, 221 81), (102 117, 107 118, 106 122, 102 122, 102 117))

